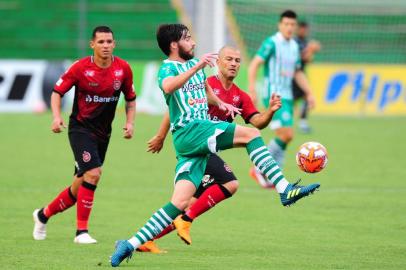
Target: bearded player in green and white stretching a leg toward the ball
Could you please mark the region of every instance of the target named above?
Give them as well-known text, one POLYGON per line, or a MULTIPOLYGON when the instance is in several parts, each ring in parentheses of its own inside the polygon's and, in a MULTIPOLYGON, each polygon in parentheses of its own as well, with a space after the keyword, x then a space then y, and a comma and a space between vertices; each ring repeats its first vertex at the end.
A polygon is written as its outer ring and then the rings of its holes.
POLYGON ((136 248, 161 233, 182 213, 201 183, 210 153, 245 147, 254 165, 275 185, 285 206, 313 193, 320 186, 290 184, 269 154, 258 129, 209 120, 208 103, 217 105, 231 117, 239 113, 239 109, 224 103, 213 93, 203 69, 207 65, 214 66, 217 54, 205 54, 200 60, 193 58, 195 42, 186 26, 160 25, 157 41, 168 56, 159 70, 158 82, 169 107, 170 130, 178 160, 175 188, 171 200, 134 236, 117 241, 111 256, 113 267, 130 258, 136 248))

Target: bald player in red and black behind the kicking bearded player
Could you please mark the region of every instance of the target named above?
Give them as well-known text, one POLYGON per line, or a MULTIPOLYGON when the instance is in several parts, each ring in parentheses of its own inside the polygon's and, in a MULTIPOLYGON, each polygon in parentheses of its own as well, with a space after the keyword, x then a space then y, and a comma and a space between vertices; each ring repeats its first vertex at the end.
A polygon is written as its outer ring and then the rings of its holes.
MULTIPOLYGON (((281 107, 281 100, 278 96, 273 95, 269 102, 269 108, 259 113, 249 95, 233 83, 233 80, 237 77, 240 62, 241 53, 239 50, 230 46, 223 47, 217 60, 218 74, 209 77, 207 81, 213 92, 221 100, 241 109, 241 117, 246 123, 263 129, 268 126, 274 112, 281 107)), ((209 116, 213 121, 232 122, 234 120, 231 115, 211 105, 209 105, 209 116)), ((166 114, 157 135, 148 142, 149 152, 158 153, 162 149, 168 130, 169 116, 166 114)), ((218 155, 210 154, 205 176, 189 202, 188 210, 182 216, 178 216, 170 226, 154 239, 158 239, 176 228, 182 240, 186 244, 191 244, 190 227, 192 221, 216 204, 230 198, 237 191, 238 186, 237 178, 231 168, 218 155)), ((146 242, 139 250, 153 253, 160 252, 159 248, 151 241, 146 242)))

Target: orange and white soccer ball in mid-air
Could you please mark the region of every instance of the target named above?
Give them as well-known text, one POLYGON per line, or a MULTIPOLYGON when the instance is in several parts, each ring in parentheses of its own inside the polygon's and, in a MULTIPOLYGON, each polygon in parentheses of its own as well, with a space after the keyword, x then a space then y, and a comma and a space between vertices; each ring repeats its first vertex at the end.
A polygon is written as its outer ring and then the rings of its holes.
POLYGON ((296 153, 296 163, 304 172, 319 172, 327 165, 327 150, 318 142, 304 143, 296 153))

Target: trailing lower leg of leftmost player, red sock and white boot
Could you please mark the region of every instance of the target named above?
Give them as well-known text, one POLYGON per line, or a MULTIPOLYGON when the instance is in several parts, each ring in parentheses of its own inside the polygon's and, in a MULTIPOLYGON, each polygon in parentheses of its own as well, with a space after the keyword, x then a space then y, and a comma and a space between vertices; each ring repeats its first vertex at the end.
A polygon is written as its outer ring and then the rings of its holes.
POLYGON ((73 196, 70 186, 65 188, 56 198, 46 207, 35 209, 32 213, 34 219, 34 230, 32 236, 35 240, 45 240, 47 236, 46 224, 48 219, 53 215, 65 211, 76 203, 76 198, 73 196))

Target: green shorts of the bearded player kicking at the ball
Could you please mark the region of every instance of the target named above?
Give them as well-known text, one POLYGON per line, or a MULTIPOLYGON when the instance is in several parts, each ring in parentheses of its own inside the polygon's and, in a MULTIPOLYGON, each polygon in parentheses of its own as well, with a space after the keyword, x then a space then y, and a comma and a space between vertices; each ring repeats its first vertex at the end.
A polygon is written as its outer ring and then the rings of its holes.
POLYGON ((178 163, 175 183, 189 180, 199 187, 210 153, 233 147, 235 124, 195 120, 173 133, 178 163))

